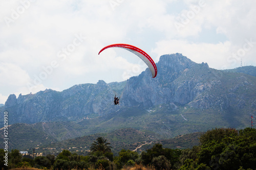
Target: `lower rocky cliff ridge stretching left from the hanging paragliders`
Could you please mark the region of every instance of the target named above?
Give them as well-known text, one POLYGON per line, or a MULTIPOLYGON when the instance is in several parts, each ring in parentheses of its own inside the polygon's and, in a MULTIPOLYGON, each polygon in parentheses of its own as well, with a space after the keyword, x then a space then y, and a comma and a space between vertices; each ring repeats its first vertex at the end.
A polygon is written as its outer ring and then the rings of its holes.
POLYGON ((4 107, 11 123, 37 123, 81 120, 88 114, 106 114, 117 110, 113 103, 111 86, 104 81, 97 84, 75 85, 62 92, 47 89, 16 99, 11 94, 4 107))

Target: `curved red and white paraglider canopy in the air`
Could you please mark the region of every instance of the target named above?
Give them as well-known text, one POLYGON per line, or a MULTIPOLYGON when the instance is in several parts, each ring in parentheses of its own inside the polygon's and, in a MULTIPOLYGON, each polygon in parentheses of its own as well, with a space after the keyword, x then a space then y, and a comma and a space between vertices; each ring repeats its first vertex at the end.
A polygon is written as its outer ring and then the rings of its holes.
POLYGON ((99 54, 104 51, 107 48, 111 48, 111 47, 119 47, 119 48, 123 48, 125 50, 128 50, 134 54, 136 54, 137 56, 139 56, 148 66, 148 68, 150 68, 151 73, 152 73, 152 77, 155 78, 157 76, 157 66, 155 64, 155 62, 152 60, 152 58, 146 54, 144 51, 142 51, 140 48, 133 46, 133 45, 129 45, 129 44, 111 44, 108 46, 105 46, 104 48, 102 48, 99 52, 99 54))

